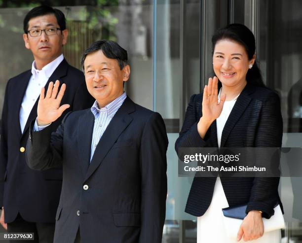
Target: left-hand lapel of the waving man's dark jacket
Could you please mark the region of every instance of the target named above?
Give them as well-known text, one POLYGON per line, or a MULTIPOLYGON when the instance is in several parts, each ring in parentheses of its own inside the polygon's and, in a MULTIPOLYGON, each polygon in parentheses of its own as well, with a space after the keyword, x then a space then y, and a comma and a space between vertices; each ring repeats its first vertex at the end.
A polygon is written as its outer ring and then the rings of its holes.
POLYGON ((78 151, 80 151, 80 161, 82 161, 82 172, 83 176, 85 176, 90 163, 91 142, 94 126, 94 115, 90 109, 88 109, 87 113, 80 117, 79 125, 80 127, 77 131, 77 144, 78 151))

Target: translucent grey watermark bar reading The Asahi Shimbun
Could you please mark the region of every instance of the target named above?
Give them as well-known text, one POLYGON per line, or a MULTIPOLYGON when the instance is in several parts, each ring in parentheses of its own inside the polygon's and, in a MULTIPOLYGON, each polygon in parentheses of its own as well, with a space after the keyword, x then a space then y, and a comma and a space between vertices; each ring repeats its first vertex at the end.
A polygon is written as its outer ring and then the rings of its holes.
POLYGON ((179 148, 179 176, 302 176, 302 148, 179 148))

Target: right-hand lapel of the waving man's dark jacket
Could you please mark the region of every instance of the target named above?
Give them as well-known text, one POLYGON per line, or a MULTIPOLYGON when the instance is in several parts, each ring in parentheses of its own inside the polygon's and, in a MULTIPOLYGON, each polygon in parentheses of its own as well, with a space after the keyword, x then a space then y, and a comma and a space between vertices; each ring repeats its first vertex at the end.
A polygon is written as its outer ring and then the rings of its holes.
POLYGON ((134 110, 134 103, 130 100, 130 98, 127 97, 124 103, 120 106, 120 108, 113 116, 113 119, 109 123, 102 138, 100 139, 88 167, 85 180, 87 180, 89 176, 100 166, 103 159, 113 146, 114 142, 130 124, 133 118, 129 115, 129 113, 132 113, 134 110))

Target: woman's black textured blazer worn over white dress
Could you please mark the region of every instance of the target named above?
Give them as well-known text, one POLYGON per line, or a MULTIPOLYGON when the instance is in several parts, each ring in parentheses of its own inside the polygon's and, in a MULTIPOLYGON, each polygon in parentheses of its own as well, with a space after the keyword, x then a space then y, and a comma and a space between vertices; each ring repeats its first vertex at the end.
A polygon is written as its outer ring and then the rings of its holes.
MULTIPOLYGON (((180 147, 218 147, 216 120, 201 139, 197 123, 202 116, 202 96, 193 95, 175 149, 180 147)), ((247 84, 238 97, 224 127, 221 147, 281 147, 282 116, 280 99, 273 91, 247 84)), ((248 204, 246 212, 261 210, 273 215, 280 202, 279 177, 222 177, 229 206, 248 204)), ((195 177, 190 189, 186 212, 203 215, 210 206, 216 177, 195 177)))

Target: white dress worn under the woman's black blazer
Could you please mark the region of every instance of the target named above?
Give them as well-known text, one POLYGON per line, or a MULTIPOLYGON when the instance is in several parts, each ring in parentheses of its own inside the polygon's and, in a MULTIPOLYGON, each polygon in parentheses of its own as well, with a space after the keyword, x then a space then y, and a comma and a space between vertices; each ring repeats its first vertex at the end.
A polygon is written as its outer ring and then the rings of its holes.
MULTIPOLYGON (((220 147, 223 128, 227 118, 236 101, 226 101, 221 115, 216 119, 217 139, 220 147)), ((211 204, 204 215, 197 217, 197 243, 237 243, 236 238, 232 239, 227 236, 224 226, 224 214, 222 208, 227 208, 227 198, 224 192, 221 180, 216 179, 211 204)), ((238 229, 239 230, 239 229, 238 229)), ((243 243, 241 239, 240 243, 243 243)), ((275 230, 264 233, 263 237, 249 241, 251 243, 280 243, 281 231, 275 230)))

